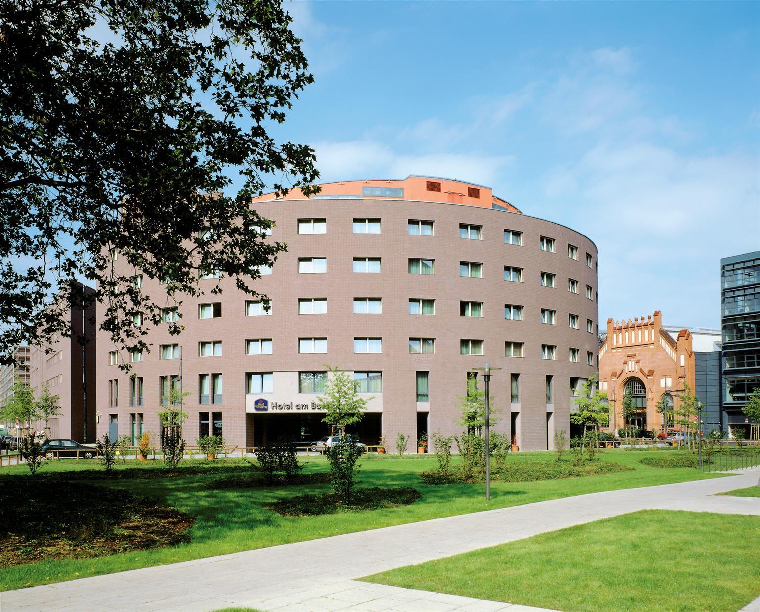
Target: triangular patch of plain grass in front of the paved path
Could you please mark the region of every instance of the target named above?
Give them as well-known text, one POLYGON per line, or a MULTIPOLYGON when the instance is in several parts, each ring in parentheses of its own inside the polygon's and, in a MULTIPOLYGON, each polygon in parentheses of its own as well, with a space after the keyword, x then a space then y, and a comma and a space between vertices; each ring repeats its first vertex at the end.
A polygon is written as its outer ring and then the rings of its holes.
POLYGON ((364 580, 554 610, 738 610, 760 595, 758 551, 760 517, 643 510, 364 580))

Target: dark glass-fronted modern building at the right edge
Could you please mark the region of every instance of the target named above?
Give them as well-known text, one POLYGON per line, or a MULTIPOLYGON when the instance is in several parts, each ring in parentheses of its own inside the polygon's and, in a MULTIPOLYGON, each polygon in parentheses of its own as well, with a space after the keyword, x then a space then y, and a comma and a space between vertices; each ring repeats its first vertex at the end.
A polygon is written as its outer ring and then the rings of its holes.
POLYGON ((760 388, 760 251, 720 260, 720 316, 725 424, 758 439, 760 423, 752 423, 742 408, 760 388))

